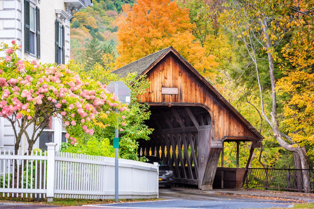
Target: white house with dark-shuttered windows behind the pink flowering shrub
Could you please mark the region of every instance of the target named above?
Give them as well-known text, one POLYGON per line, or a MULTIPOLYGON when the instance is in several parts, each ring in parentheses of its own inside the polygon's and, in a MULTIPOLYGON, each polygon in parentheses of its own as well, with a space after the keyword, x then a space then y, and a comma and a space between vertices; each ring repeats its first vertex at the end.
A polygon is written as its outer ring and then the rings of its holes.
MULTIPOLYGON (((22 60, 65 64, 70 60, 70 19, 74 10, 92 6, 91 0, 0 0, 0 42, 22 45, 22 60)), ((4 52, 0 52, 4 57, 4 52)), ((57 118, 45 128, 33 148, 45 149, 45 143, 58 145, 65 141, 65 131, 57 118)), ((32 130, 29 130, 32 132, 32 130)), ((14 150, 15 137, 11 124, 0 119, 0 149, 14 150)), ((28 145, 22 137, 20 154, 28 145)), ((59 148, 59 146, 58 146, 59 148)))

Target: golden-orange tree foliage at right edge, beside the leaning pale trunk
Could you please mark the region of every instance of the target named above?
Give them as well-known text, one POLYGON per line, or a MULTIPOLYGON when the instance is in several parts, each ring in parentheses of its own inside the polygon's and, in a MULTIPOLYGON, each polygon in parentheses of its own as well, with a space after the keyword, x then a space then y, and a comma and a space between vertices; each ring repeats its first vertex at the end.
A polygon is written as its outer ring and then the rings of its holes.
MULTIPOLYGON (((308 44, 307 49, 313 49, 308 44)), ((290 46, 284 47, 284 50, 290 46)), ((282 126, 300 146, 308 147, 308 155, 314 154, 314 50, 289 50, 284 53, 290 69, 277 82, 279 95, 288 98, 281 101, 283 107, 282 126)), ((282 66, 287 68, 288 66, 282 66)))

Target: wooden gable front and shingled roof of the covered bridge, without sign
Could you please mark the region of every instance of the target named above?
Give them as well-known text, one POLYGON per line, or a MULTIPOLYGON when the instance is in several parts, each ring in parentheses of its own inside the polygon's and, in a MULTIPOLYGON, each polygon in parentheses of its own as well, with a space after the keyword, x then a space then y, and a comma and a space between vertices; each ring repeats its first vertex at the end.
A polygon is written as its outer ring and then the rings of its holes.
POLYGON ((113 73, 124 77, 136 72, 147 75, 149 89, 138 97, 150 105, 201 106, 208 110, 213 132, 211 140, 252 141, 260 147, 263 136, 172 46, 125 65, 113 73), (163 94, 162 87, 177 94, 163 94))

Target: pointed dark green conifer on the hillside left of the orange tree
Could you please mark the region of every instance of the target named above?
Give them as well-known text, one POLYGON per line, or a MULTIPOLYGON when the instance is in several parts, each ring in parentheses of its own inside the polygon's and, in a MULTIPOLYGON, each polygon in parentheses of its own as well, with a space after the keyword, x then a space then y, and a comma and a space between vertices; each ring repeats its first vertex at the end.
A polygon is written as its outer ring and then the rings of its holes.
POLYGON ((96 63, 101 63, 103 50, 101 49, 100 40, 96 37, 93 37, 89 44, 86 44, 85 48, 83 62, 85 64, 85 70, 90 71, 96 63))

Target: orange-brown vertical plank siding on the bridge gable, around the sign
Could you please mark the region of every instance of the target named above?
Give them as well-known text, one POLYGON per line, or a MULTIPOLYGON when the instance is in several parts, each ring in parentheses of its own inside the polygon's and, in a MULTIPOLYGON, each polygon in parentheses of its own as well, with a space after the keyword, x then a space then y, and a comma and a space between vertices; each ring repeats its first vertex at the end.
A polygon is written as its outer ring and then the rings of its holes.
POLYGON ((225 105, 215 97, 197 77, 176 56, 168 54, 147 73, 151 81, 148 91, 138 96, 141 102, 148 103, 190 103, 191 106, 206 106, 211 111, 214 122, 214 139, 225 136, 257 137, 225 105), (178 95, 161 94, 161 87, 177 87, 178 95))

